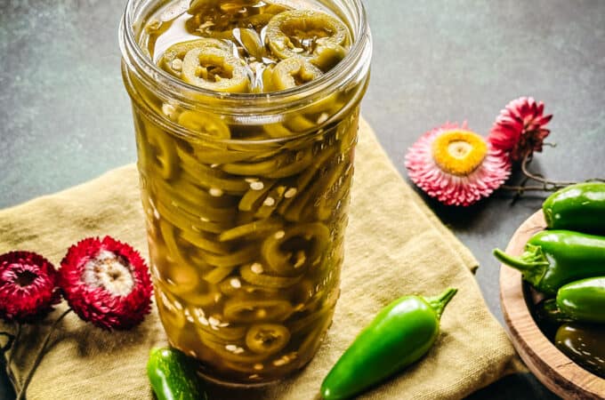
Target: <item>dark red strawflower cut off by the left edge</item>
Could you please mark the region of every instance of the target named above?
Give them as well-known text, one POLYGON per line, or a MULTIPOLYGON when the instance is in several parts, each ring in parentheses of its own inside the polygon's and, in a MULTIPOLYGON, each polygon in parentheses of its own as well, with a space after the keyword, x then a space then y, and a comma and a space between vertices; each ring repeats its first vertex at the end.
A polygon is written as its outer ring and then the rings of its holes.
POLYGON ((60 301, 59 273, 35 252, 0 255, 0 317, 7 322, 34 322, 60 301))

